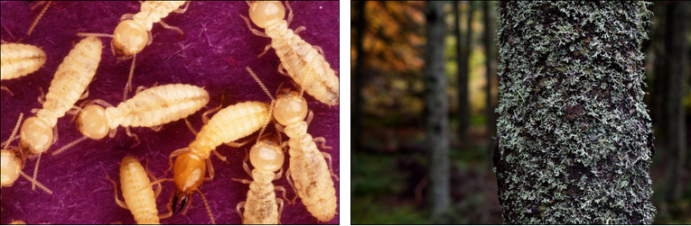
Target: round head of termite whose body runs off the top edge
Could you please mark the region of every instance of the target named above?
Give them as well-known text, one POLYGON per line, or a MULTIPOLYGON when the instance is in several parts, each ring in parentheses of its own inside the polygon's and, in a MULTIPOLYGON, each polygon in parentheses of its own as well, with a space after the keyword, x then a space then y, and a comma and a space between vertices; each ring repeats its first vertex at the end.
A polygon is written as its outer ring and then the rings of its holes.
POLYGON ((117 24, 113 32, 113 46, 117 54, 124 56, 134 55, 146 47, 149 41, 149 32, 142 24, 133 20, 125 20, 117 24))

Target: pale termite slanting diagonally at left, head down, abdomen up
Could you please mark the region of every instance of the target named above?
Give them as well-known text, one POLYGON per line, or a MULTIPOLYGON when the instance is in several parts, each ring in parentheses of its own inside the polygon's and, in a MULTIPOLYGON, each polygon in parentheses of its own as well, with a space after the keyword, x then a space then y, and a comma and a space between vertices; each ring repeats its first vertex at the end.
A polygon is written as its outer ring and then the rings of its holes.
MULTIPOLYGON (((39 98, 43 108, 36 116, 26 119, 20 131, 20 147, 31 154, 38 154, 33 178, 36 178, 41 154, 48 150, 58 140, 58 130, 55 124, 65 113, 74 113, 70 109, 79 99, 86 98, 84 91, 89 82, 96 75, 98 62, 101 59, 101 41, 95 37, 83 39, 70 50, 70 53, 55 72, 45 100, 39 98), (84 95, 82 95, 84 94, 84 95)), ((32 112, 36 112, 34 109, 32 112)))

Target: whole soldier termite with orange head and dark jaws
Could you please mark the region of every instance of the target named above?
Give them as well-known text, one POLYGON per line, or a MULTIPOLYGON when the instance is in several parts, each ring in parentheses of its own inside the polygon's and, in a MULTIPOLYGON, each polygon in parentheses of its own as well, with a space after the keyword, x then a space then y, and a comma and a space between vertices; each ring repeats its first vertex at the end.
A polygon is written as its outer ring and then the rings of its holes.
MULTIPOLYGON (((175 182, 175 193, 173 194, 173 210, 176 209, 178 201, 181 203, 180 210, 189 205, 191 194, 197 191, 201 182, 213 179, 214 171, 210 161, 210 152, 221 160, 228 160, 216 151, 216 147, 226 143, 230 144, 235 140, 247 137, 249 134, 258 131, 269 121, 269 104, 261 102, 244 102, 230 105, 220 110, 220 105, 210 109, 201 115, 204 126, 197 133, 188 122, 188 127, 197 136, 190 143, 188 148, 173 151, 169 160, 170 167, 173 168, 173 181, 175 182), (219 111, 209 119, 207 114, 219 111), (175 164, 173 166, 173 157, 175 164), (209 165, 210 178, 204 178, 204 172, 209 165)), ((242 145, 242 144, 240 144, 242 145)), ((168 170, 170 170, 169 168, 168 170)), ((201 196, 203 198, 203 195, 201 196)), ((184 214, 184 213, 183 213, 184 214)))

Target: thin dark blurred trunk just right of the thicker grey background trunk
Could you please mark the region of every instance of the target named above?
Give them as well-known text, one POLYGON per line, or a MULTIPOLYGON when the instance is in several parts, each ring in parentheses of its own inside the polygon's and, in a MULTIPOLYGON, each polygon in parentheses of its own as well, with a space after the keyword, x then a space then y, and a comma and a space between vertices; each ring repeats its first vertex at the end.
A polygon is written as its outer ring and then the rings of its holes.
POLYGON ((472 22, 472 3, 467 12, 468 26, 465 36, 461 35, 461 6, 458 1, 455 3, 456 14, 456 56, 458 60, 458 135, 461 145, 464 148, 470 147, 470 137, 468 131, 471 126, 471 109, 468 103, 468 58, 471 50, 471 22, 472 22))

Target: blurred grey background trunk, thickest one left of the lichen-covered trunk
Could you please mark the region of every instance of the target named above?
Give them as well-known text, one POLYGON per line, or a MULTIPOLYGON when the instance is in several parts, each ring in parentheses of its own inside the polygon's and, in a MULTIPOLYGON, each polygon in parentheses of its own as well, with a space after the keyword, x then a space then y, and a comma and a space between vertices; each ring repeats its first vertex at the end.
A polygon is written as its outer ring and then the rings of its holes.
POLYGON ((429 2, 426 6, 425 108, 426 133, 430 147, 430 202, 432 216, 446 211, 451 201, 449 191, 449 106, 446 97, 444 58, 444 2, 429 2))

